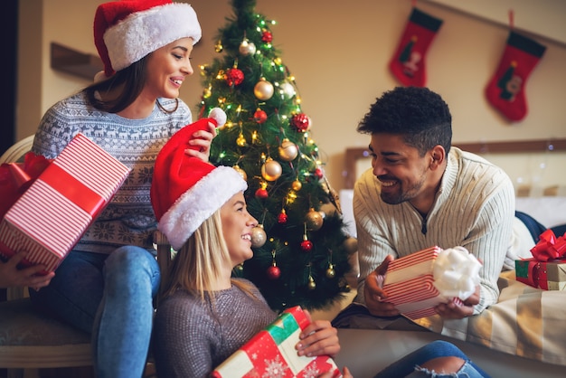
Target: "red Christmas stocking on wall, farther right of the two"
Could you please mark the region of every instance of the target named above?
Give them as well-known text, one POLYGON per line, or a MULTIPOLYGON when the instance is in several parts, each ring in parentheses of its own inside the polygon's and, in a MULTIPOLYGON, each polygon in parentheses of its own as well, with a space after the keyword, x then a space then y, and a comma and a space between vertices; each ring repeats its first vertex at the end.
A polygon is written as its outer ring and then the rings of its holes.
POLYGON ((527 114, 524 85, 546 47, 511 32, 495 76, 486 87, 489 102, 506 118, 519 121, 527 114))

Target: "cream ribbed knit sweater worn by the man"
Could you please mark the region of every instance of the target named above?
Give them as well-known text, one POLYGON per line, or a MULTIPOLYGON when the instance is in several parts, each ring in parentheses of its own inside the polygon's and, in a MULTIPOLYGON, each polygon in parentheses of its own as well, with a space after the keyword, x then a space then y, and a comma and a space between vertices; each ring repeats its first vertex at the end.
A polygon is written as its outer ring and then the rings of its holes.
POLYGON ((463 246, 483 261, 476 314, 496 302, 497 279, 511 241, 514 187, 502 169, 484 158, 450 149, 427 219, 408 202, 383 203, 380 183, 369 169, 354 186, 354 219, 360 259, 355 301, 364 303, 364 279, 386 255, 398 258, 436 245, 443 249, 463 246))

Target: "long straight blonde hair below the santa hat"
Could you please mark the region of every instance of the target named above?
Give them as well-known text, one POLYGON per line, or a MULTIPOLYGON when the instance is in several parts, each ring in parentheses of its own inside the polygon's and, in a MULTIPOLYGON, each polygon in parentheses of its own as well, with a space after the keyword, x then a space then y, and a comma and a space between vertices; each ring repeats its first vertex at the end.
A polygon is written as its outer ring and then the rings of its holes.
MULTIPOLYGON (((214 299, 214 283, 222 279, 224 267, 230 264, 231 257, 222 233, 221 212, 216 212, 206 219, 185 241, 183 247, 175 254, 167 278, 161 285, 159 300, 184 289, 205 300, 209 296, 214 299)), ((241 288, 251 297, 253 286, 236 282, 232 285, 241 288)))

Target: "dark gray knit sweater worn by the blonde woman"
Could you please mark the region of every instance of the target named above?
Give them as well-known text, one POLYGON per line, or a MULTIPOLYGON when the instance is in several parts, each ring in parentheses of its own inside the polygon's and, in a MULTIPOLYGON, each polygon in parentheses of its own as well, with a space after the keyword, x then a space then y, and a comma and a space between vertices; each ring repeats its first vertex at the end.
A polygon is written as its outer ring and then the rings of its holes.
POLYGON ((157 307, 153 350, 157 374, 167 378, 208 377, 277 317, 259 292, 251 298, 232 286, 217 293, 216 307, 179 290, 157 307))

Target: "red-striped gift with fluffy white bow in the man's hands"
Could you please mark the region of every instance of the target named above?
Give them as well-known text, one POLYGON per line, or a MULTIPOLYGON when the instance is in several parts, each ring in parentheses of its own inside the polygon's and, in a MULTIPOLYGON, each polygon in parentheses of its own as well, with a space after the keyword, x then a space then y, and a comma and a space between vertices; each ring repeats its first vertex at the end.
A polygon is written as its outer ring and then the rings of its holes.
POLYGON ((389 263, 383 290, 405 317, 435 315, 434 307, 452 300, 461 305, 476 291, 482 264, 463 247, 435 246, 389 263))

